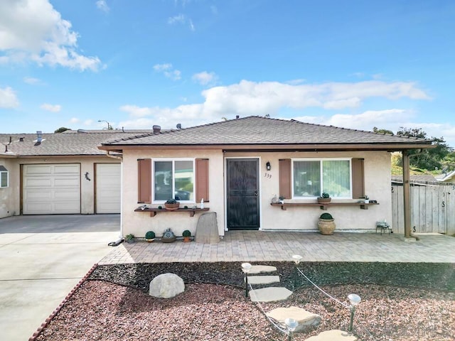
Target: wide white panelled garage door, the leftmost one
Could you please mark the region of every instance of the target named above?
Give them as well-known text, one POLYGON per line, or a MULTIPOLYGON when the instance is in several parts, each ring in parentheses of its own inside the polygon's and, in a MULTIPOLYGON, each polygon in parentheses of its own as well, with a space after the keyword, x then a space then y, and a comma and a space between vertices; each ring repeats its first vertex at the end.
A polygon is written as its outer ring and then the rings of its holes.
POLYGON ((23 214, 80 213, 80 165, 23 166, 23 214))

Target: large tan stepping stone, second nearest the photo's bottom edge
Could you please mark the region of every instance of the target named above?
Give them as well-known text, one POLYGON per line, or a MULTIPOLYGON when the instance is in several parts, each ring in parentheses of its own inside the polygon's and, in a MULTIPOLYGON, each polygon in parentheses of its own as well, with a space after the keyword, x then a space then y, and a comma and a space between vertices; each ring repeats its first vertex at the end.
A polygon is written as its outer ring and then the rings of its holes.
POLYGON ((285 325, 284 320, 294 318, 299 325, 294 332, 309 332, 309 330, 317 328, 321 323, 321 316, 310 313, 308 310, 291 306, 289 308, 276 308, 266 313, 269 318, 273 318, 282 325, 285 325))

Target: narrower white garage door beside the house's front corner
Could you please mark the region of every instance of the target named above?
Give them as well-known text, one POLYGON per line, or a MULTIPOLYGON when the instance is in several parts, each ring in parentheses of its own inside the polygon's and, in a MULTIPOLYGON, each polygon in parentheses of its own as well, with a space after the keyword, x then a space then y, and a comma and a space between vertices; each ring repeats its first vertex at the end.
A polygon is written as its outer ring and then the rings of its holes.
POLYGON ((97 213, 120 213, 120 163, 96 165, 97 213))

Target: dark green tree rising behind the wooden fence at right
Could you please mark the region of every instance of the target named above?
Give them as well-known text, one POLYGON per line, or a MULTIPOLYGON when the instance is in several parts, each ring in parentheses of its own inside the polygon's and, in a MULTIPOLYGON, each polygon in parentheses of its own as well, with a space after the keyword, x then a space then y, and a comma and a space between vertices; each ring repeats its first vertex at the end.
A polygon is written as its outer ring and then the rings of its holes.
MULTIPOLYGON (((414 137, 417 139, 428 139, 427 133, 422 128, 405 128, 400 126, 397 135, 414 137)), ((423 149, 422 152, 410 151, 410 164, 416 168, 427 169, 428 171, 434 171, 435 169, 441 169, 441 161, 450 153, 450 148, 444 141, 444 137, 432 137, 429 139, 432 144, 436 145, 436 148, 423 149)))

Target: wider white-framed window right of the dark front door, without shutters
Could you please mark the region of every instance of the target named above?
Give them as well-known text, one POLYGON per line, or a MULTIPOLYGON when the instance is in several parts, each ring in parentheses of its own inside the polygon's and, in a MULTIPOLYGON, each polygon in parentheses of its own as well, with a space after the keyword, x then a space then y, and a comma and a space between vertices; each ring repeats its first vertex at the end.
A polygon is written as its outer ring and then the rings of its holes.
POLYGON ((328 193, 333 198, 351 199, 350 158, 293 159, 292 197, 311 199, 328 193))

